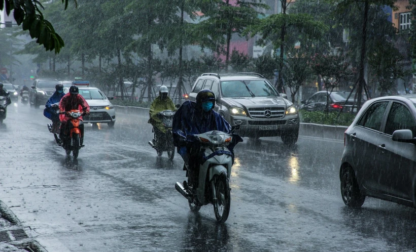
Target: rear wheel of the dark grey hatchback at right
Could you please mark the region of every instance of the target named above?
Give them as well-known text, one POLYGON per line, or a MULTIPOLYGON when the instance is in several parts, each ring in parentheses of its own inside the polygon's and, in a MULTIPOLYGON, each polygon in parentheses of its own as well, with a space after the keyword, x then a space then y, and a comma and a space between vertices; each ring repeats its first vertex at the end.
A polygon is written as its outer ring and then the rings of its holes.
POLYGON ((365 195, 360 191, 354 170, 346 167, 341 177, 341 196, 345 205, 349 207, 361 207, 364 204, 365 195))

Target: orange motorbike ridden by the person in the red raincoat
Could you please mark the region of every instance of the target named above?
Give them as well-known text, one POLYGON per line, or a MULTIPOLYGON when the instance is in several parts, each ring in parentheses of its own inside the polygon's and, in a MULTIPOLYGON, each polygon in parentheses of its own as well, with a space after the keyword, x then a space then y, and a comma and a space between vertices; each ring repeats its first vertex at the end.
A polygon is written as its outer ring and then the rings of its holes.
POLYGON ((80 120, 80 117, 84 115, 84 112, 79 110, 71 110, 66 112, 60 112, 61 114, 66 113, 71 118, 67 121, 69 123, 70 134, 65 136, 65 139, 62 139, 61 146, 66 152, 66 155, 71 155, 71 151, 73 153, 74 158, 78 157, 79 151, 81 147, 84 147, 83 143, 81 142, 81 130, 80 125, 83 124, 83 121, 80 120))

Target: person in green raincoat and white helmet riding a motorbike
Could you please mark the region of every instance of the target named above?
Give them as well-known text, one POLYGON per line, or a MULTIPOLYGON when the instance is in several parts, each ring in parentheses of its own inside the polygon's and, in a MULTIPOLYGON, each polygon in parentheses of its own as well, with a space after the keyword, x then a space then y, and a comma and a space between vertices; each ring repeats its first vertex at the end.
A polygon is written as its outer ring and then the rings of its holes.
POLYGON ((175 104, 169 98, 168 93, 169 91, 167 90, 166 86, 161 86, 159 89, 159 96, 156 97, 156 99, 152 102, 152 105, 150 105, 150 119, 148 123, 153 125, 153 130, 157 135, 156 137, 160 136, 161 134, 166 134, 166 129, 163 126, 160 118, 158 118, 157 113, 164 110, 176 110, 175 104))

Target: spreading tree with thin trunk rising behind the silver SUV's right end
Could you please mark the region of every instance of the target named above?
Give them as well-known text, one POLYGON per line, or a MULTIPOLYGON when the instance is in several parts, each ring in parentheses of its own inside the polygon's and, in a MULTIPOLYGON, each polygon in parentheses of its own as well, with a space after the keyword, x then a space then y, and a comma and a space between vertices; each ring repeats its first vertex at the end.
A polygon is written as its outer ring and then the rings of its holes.
POLYGON ((287 14, 287 8, 292 2, 286 0, 280 0, 282 2, 283 12, 281 14, 274 14, 265 19, 260 20, 256 25, 251 26, 248 31, 254 36, 257 33, 262 35, 262 39, 259 40, 260 45, 265 45, 267 41, 271 41, 274 49, 280 48, 280 60, 279 60, 279 76, 276 88, 279 92, 284 92, 283 89, 283 68, 284 68, 284 55, 285 51, 291 49, 294 45, 288 43, 291 36, 287 36, 288 30, 301 31, 302 36, 308 39, 319 40, 322 34, 328 29, 320 21, 316 21, 311 15, 298 13, 298 14, 287 14))

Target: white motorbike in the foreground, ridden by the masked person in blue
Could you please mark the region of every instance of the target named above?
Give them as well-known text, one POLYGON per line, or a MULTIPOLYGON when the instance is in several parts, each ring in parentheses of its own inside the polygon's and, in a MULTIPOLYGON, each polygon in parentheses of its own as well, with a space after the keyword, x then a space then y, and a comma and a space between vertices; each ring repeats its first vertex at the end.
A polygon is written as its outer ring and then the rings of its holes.
POLYGON ((231 166, 233 154, 228 149, 228 145, 235 145, 242 139, 236 135, 210 131, 199 135, 186 137, 187 143, 197 143, 197 153, 201 153, 199 161, 198 185, 196 190, 191 176, 190 166, 185 163, 186 177, 188 182, 177 182, 175 189, 188 199, 189 208, 193 212, 198 212, 202 205, 213 204, 214 213, 218 222, 224 223, 230 213, 230 185, 231 166))

